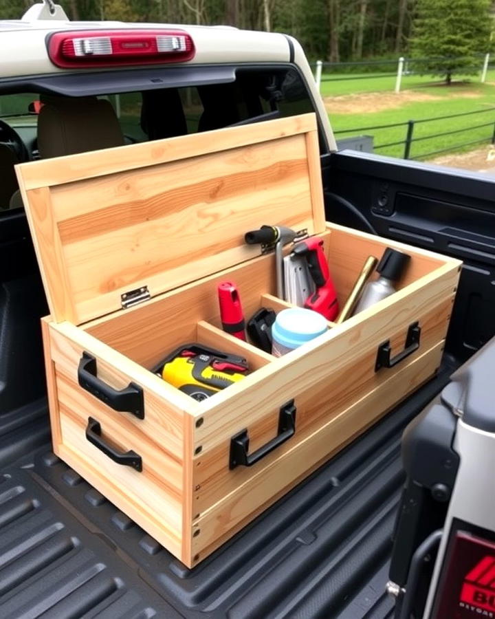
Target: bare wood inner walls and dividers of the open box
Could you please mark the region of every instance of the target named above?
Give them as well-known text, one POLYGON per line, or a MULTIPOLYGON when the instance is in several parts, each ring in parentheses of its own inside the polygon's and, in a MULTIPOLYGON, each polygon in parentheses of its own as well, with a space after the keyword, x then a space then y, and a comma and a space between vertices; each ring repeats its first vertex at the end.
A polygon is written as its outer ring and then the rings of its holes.
MULTIPOLYGON (((333 224, 329 224, 326 232, 320 236, 324 241, 329 270, 342 308, 366 258, 374 255, 380 259, 388 243, 333 224)), ((391 246, 404 249, 397 243, 391 243, 391 246)), ((290 246, 287 247, 287 252, 290 249, 290 246)), ((411 260, 401 281, 397 283, 397 290, 442 264, 441 260, 425 252, 413 252, 410 248, 405 250, 411 260)), ((217 286, 221 281, 233 281, 236 284, 247 322, 260 307, 268 307, 276 313, 292 307, 276 296, 275 274, 274 254, 265 254, 157 296, 144 305, 99 318, 83 328, 146 369, 155 367, 177 347, 195 342, 243 356, 248 360, 249 373, 252 373, 276 358, 249 342, 223 332, 217 286)), ((337 330, 345 328, 342 325, 329 322, 329 327, 337 330)))

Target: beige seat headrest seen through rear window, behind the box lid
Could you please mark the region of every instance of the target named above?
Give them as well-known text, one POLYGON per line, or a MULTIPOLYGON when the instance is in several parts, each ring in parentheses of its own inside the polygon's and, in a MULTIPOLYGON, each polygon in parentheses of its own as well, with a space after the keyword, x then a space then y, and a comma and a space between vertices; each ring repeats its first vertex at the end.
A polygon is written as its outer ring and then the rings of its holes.
POLYGON ((124 144, 118 118, 107 100, 45 95, 41 101, 38 149, 42 159, 124 144))

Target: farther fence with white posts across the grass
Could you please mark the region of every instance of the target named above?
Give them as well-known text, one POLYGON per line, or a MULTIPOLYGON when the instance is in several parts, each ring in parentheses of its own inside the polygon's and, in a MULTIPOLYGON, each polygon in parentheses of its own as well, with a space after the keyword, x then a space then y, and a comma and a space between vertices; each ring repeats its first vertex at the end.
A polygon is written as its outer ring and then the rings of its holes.
MULTIPOLYGON (((487 76, 487 70, 490 62, 489 54, 477 54, 476 56, 459 56, 458 58, 406 58, 401 56, 391 60, 377 60, 377 61, 359 61, 349 63, 325 63, 323 61, 316 61, 314 65, 315 73, 314 78, 318 90, 321 87, 322 82, 335 82, 342 80, 373 80, 376 78, 395 77, 395 92, 399 92, 401 89, 402 78, 404 75, 419 74, 423 71, 422 67, 432 62, 437 63, 450 63, 454 61, 473 61, 479 63, 479 71, 481 72, 481 82, 485 82, 487 76), (380 69, 378 73, 371 73, 369 75, 353 75, 349 70, 354 68, 365 69, 370 67, 376 67, 380 69), (385 67, 383 69, 382 67, 385 67), (390 71, 386 69, 391 67, 390 71), (325 74, 323 69, 325 68, 325 74)), ((428 72, 425 70, 424 72, 428 72)))

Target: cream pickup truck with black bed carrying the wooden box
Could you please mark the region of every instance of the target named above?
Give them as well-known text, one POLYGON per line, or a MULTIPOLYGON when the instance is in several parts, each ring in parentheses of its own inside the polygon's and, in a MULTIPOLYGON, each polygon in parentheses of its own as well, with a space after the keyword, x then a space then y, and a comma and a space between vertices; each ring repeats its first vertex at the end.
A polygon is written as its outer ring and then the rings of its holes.
POLYGON ((0 617, 391 618, 401 433, 495 332, 494 180, 337 151, 304 52, 284 34, 70 23, 46 2, 0 21, 0 46, 0 617), (109 31, 125 39, 136 29, 178 37, 170 56, 114 58, 83 45, 66 57, 50 44, 58 32, 98 30, 104 45, 109 31), (47 100, 63 118, 43 126, 47 100), (463 260, 443 362, 187 569, 50 450, 39 320, 48 310, 14 164, 308 111, 318 118, 327 219, 463 260))

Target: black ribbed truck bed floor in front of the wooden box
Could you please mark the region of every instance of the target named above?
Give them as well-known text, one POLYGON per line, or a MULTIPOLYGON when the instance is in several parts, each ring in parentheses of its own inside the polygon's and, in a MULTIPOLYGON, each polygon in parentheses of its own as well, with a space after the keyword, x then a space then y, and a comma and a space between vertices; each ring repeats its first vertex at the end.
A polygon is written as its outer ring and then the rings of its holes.
POLYGON ((384 619, 400 438, 439 375, 195 569, 50 451, 0 475, 0 616, 384 619))

